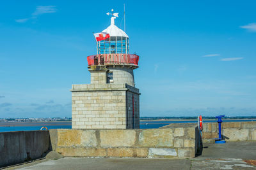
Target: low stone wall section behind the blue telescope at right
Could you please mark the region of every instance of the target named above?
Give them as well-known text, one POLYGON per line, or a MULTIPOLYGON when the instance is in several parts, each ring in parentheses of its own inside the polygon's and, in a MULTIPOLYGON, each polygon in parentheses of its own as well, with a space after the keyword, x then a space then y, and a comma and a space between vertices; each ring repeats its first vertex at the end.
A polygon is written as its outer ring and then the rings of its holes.
MULTIPOLYGON (((218 138, 218 123, 203 124, 203 142, 211 143, 218 138)), ((256 122, 222 122, 222 138, 226 141, 255 141, 256 122)))

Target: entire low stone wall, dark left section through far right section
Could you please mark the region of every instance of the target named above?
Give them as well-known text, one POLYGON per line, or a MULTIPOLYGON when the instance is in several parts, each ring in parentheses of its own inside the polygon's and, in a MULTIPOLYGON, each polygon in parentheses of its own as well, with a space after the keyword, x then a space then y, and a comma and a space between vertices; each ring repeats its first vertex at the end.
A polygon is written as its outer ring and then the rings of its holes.
MULTIPOLYGON (((223 122, 228 141, 256 141, 256 122, 223 122)), ((203 141, 218 137, 217 123, 204 123, 203 141)), ((37 159, 54 150, 68 157, 195 157, 195 123, 170 124, 159 129, 51 129, 0 132, 0 167, 37 159)))

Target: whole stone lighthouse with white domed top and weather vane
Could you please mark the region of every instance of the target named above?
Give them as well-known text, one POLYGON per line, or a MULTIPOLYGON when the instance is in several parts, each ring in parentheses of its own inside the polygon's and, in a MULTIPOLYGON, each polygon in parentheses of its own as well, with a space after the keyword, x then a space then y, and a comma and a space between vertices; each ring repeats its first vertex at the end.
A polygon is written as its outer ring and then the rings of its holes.
POLYGON ((72 85, 72 129, 140 128, 140 91, 134 69, 139 56, 129 54, 129 36, 115 25, 94 33, 97 54, 87 57, 91 83, 72 85))

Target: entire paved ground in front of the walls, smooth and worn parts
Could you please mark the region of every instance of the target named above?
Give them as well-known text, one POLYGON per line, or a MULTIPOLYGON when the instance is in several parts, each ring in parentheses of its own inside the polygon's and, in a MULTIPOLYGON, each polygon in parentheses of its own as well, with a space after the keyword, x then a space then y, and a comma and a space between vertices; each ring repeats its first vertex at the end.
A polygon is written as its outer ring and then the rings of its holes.
POLYGON ((256 143, 204 144, 193 159, 73 158, 43 160, 11 169, 255 169, 256 143))

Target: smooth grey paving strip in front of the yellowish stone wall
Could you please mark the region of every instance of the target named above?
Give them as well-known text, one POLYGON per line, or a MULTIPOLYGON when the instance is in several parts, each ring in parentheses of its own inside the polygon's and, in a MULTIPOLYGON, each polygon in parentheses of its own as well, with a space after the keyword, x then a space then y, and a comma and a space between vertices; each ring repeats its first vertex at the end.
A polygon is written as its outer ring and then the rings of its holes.
POLYGON ((65 157, 58 160, 48 160, 35 166, 22 169, 189 169, 188 159, 94 159, 65 157))

